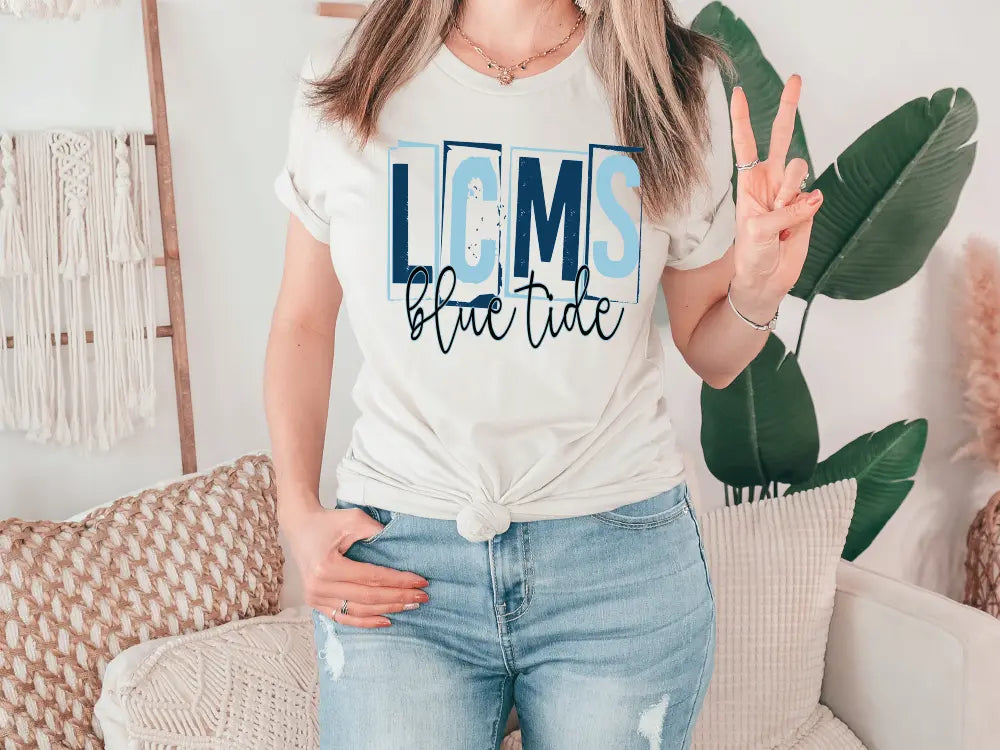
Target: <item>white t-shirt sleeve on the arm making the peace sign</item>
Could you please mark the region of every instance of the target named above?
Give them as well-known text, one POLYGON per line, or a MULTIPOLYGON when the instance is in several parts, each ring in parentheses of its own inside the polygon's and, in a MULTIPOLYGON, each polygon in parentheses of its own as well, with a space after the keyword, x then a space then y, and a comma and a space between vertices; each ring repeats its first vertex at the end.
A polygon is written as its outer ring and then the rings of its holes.
POLYGON ((695 191, 690 210, 663 227, 669 235, 666 266, 688 270, 723 255, 736 236, 733 201, 732 127, 722 75, 714 64, 706 72, 711 144, 706 156, 708 184, 695 191))

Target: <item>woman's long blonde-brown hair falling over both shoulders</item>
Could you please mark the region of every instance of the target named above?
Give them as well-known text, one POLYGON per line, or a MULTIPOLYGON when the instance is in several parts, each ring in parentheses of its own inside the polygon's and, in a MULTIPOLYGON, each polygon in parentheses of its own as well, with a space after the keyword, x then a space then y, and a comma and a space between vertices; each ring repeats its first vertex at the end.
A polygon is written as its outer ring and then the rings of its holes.
MULTIPOLYGON (((460 0, 373 0, 311 103, 367 143, 389 97, 430 62, 457 23, 460 0)), ((722 47, 681 25, 667 0, 588 0, 591 63, 623 145, 635 155, 643 204, 665 216, 703 184, 709 145, 704 70, 728 68, 722 47)))

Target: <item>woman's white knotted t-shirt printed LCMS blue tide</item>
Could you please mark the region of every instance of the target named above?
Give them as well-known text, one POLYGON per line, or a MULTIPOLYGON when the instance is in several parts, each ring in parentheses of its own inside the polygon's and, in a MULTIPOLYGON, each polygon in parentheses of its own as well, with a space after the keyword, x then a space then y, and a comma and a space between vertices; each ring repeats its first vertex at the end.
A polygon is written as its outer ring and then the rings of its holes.
POLYGON ((362 149, 300 88, 275 188, 329 244, 364 356, 341 498, 481 541, 683 480, 652 312, 665 265, 733 241, 728 105, 707 71, 711 185, 658 223, 584 44, 508 87, 442 45, 362 149))

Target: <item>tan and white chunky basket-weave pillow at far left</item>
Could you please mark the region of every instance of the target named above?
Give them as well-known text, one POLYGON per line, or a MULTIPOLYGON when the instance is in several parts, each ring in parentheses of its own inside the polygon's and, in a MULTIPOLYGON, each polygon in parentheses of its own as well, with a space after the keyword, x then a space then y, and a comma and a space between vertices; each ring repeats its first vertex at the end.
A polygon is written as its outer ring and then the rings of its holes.
POLYGON ((78 522, 0 521, 4 750, 99 750, 107 663, 152 638, 278 611, 270 460, 251 455, 78 522))

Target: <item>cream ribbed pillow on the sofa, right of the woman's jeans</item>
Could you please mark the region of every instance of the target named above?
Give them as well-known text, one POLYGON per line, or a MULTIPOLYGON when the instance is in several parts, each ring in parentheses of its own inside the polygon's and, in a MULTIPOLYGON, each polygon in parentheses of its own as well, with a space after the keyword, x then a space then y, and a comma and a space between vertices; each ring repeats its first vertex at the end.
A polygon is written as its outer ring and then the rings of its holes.
POLYGON ((819 703, 856 494, 851 479, 702 517, 718 621, 695 750, 863 750, 819 703))

